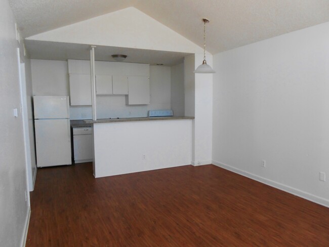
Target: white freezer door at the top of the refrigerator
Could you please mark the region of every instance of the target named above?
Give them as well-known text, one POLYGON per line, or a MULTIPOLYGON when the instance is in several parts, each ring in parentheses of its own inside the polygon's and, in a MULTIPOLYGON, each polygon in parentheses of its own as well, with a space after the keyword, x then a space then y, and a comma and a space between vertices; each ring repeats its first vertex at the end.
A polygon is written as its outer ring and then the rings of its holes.
POLYGON ((68 96, 34 96, 34 119, 69 118, 68 96))

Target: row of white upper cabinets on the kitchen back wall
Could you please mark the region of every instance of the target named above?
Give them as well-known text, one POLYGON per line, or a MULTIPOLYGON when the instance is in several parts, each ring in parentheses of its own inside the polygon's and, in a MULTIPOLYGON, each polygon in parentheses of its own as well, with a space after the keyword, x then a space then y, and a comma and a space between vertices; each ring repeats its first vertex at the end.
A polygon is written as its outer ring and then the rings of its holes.
MULTIPOLYGON (((70 105, 91 105, 90 62, 68 61, 70 105)), ((95 61, 96 94, 126 95, 129 105, 150 103, 149 64, 95 61)))

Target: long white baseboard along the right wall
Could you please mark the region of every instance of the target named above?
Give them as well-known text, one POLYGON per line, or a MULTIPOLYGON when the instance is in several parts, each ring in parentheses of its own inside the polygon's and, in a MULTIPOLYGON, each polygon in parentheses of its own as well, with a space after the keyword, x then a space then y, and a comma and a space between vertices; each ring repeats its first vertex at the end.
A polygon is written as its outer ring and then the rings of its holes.
POLYGON ((322 205, 324 207, 329 208, 329 200, 328 199, 325 199, 323 197, 319 197, 319 196, 316 196, 316 195, 307 193, 305 191, 302 191, 302 190, 299 190, 299 189, 296 189, 296 188, 293 188, 293 187, 290 187, 290 186, 287 186, 287 185, 284 185, 284 184, 275 182, 273 180, 260 177, 258 175, 255 175, 255 174, 252 174, 252 173, 249 173, 249 172, 246 172, 246 171, 243 171, 243 170, 240 170, 240 169, 231 167, 228 164, 224 164, 224 163, 221 163, 221 162, 218 162, 218 161, 215 161, 215 160, 213 160, 213 164, 215 166, 217 166, 217 167, 221 167, 221 168, 223 168, 225 170, 231 171, 233 173, 237 173, 237 174, 242 175, 244 177, 247 177, 247 178, 256 180, 256 181, 258 181, 260 183, 269 185, 269 186, 274 187, 274 188, 277 188, 279 190, 283 190, 283 191, 288 192, 288 193, 291 193, 293 195, 297 195, 297 196, 302 197, 302 198, 304 198, 306 200, 315 202, 317 204, 320 204, 320 205, 322 205))

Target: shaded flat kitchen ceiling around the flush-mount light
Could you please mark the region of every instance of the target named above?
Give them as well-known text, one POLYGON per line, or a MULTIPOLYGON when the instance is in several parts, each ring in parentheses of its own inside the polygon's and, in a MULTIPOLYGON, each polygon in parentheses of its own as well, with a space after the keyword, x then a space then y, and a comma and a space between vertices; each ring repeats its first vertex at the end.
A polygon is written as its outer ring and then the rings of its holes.
MULTIPOLYGON (((62 61, 66 61, 67 59, 90 60, 89 45, 28 39, 24 41, 24 44, 28 57, 31 59, 62 61)), ((124 62, 128 63, 163 64, 164 66, 180 64, 183 62, 185 56, 191 55, 190 53, 180 52, 97 46, 95 49, 95 60, 115 62, 111 57, 112 54, 127 55, 124 62)))

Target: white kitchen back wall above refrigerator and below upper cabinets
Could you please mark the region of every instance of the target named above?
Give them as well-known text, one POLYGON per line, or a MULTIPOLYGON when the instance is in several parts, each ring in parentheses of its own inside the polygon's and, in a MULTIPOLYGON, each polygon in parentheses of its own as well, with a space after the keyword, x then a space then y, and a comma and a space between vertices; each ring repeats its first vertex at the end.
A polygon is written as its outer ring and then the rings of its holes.
MULTIPOLYGON (((96 61, 96 73, 106 71, 110 63, 96 61)), ((89 61, 86 61, 90 68, 89 61)), ((66 61, 31 59, 33 95, 69 95, 66 61)), ((88 73, 89 71, 86 71, 88 73)), ((97 118, 147 116, 150 109, 171 108, 171 72, 167 66, 150 66, 149 105, 126 105, 126 96, 97 96, 97 118)), ((91 119, 91 106, 71 106, 71 119, 91 119)))

